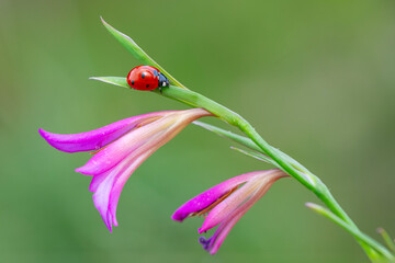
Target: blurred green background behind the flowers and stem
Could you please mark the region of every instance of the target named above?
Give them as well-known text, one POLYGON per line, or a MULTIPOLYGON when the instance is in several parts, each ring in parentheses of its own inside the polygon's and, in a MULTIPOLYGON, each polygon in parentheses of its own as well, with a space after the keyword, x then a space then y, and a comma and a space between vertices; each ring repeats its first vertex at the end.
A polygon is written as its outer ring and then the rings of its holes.
POLYGON ((276 183, 208 255, 203 219, 170 215, 269 167, 192 125, 129 179, 111 235, 90 178, 74 172, 90 156, 56 151, 37 129, 80 133, 185 107, 88 80, 138 65, 100 15, 320 176, 362 230, 395 235, 393 0, 1 0, 0 262, 368 262, 351 236, 304 207, 317 199, 294 180, 276 183))

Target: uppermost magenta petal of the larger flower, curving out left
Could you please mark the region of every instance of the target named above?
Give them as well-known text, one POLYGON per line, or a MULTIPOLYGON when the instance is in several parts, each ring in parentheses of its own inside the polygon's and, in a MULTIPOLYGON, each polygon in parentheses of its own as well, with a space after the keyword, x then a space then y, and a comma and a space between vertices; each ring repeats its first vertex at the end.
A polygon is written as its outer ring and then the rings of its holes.
POLYGON ((81 134, 52 134, 44 129, 38 129, 38 133, 50 146, 61 151, 76 152, 98 150, 131 129, 134 129, 142 124, 151 123, 168 113, 169 111, 143 114, 81 134))

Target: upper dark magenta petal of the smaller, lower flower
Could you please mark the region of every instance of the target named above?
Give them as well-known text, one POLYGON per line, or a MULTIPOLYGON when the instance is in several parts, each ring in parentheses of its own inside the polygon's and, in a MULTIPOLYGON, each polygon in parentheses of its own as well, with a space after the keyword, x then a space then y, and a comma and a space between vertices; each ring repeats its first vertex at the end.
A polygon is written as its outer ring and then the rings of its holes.
POLYGON ((183 204, 174 211, 174 214, 171 216, 171 219, 177 221, 184 220, 192 213, 203 210, 234 187, 245 183, 252 176, 256 176, 260 173, 261 172, 245 173, 215 185, 214 187, 203 192, 202 194, 193 197, 192 199, 183 204))

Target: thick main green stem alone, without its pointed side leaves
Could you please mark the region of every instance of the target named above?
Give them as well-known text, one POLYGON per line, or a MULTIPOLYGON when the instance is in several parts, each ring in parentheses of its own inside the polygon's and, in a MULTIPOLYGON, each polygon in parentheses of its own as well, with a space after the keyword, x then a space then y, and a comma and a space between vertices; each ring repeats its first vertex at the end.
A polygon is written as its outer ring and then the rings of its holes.
MULTIPOLYGON (((193 105, 204 107, 208 112, 215 114, 217 117, 223 121, 237 126, 241 132, 244 132, 267 156, 269 156, 273 161, 275 161, 283 171, 296 179, 304 186, 311 190, 316 196, 327 205, 327 207, 346 224, 351 226, 356 232, 361 232, 357 225, 351 220, 347 213, 341 208, 337 203, 335 197, 329 192, 328 187, 312 172, 309 172, 304 167, 300 165, 295 168, 295 163, 298 162, 293 160, 291 157, 284 158, 284 153, 280 153, 279 150, 271 147, 250 125, 245 118, 242 118, 237 113, 230 111, 229 108, 216 103, 215 101, 210 100, 196 92, 184 90, 177 87, 170 87, 169 89, 162 90, 162 95, 181 100, 193 105)), ((366 252, 368 256, 373 261, 380 258, 380 254, 385 256, 388 260, 393 260, 393 255, 385 248, 379 243, 369 245, 360 238, 357 238, 358 242, 366 252), (380 253, 380 254, 377 254, 380 253)))

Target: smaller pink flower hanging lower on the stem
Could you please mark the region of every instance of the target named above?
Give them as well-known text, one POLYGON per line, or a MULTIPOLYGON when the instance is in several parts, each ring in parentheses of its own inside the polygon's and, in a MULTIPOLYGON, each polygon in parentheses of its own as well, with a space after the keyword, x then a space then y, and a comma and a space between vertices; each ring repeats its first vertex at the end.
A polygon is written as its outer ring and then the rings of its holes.
POLYGON ((279 179, 287 176, 279 169, 250 172, 229 179, 193 197, 178 208, 171 216, 183 221, 187 217, 206 216, 198 230, 203 233, 219 225, 213 237, 201 237, 203 248, 215 254, 236 222, 260 199, 279 179), (242 186, 240 186, 245 183, 242 186), (240 186, 240 187, 239 187, 240 186))

